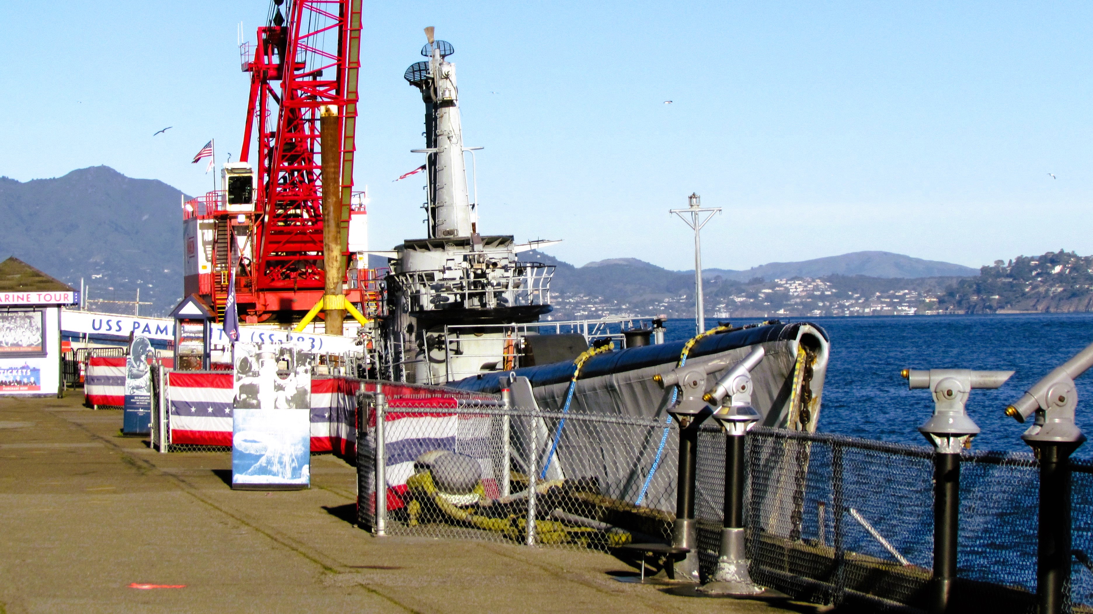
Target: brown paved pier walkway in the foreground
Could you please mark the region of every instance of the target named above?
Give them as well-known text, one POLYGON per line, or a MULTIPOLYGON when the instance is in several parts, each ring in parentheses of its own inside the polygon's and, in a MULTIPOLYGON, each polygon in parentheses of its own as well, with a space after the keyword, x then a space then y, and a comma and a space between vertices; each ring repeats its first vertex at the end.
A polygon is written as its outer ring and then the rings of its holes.
POLYGON ((0 399, 0 612, 786 612, 619 582, 603 553, 376 539, 337 458, 309 491, 233 492, 231 454, 160 454, 81 403, 0 399))

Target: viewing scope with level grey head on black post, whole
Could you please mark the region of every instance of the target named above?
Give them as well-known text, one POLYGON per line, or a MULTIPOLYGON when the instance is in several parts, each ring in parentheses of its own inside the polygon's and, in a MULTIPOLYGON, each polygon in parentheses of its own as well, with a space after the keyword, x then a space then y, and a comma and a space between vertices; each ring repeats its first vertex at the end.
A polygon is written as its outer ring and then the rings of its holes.
POLYGON ((964 410, 974 388, 998 388, 1013 371, 971 369, 903 369, 908 389, 929 388, 933 415, 918 430, 933 445, 933 575, 929 592, 931 614, 951 612, 956 581, 956 545, 960 534, 960 453, 972 446, 979 427, 964 410))

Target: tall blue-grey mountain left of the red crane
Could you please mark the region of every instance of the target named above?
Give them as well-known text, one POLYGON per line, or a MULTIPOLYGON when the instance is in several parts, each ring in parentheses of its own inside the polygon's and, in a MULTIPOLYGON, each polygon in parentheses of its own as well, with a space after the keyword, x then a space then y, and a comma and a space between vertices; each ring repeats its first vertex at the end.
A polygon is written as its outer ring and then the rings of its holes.
POLYGON ((107 166, 26 182, 0 177, 0 259, 14 256, 75 288, 83 278, 91 298, 133 300, 140 287, 152 303, 141 314, 166 314, 183 296, 181 194, 107 166))

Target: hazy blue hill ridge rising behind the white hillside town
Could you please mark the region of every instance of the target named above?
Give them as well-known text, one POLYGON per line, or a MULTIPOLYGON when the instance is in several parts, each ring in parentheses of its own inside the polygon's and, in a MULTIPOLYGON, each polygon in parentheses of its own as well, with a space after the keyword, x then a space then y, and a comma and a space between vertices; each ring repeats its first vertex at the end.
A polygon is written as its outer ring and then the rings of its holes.
MULTIPOLYGON (((694 270, 690 273, 693 275, 694 270)), ((747 271, 727 269, 703 269, 702 276, 721 275, 727 280, 747 282, 754 278, 765 281, 790 278, 824 278, 827 275, 866 275, 868 278, 972 278, 979 274, 978 269, 922 260, 902 253, 889 251, 855 251, 842 256, 828 256, 801 262, 769 262, 752 267, 747 271)))

